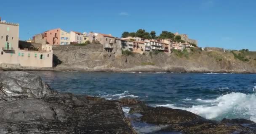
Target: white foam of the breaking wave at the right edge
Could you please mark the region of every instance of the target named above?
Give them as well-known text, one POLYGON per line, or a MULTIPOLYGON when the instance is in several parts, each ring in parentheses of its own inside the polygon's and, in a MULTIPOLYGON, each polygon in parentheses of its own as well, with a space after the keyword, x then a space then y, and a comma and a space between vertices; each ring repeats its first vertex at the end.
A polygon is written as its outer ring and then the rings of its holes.
POLYGON ((205 104, 192 106, 190 108, 176 107, 173 104, 157 105, 174 109, 190 111, 206 119, 225 118, 224 115, 233 115, 237 118, 250 117, 250 120, 256 121, 256 95, 246 95, 244 93, 230 93, 222 95, 213 100, 197 99, 196 101, 205 104))

